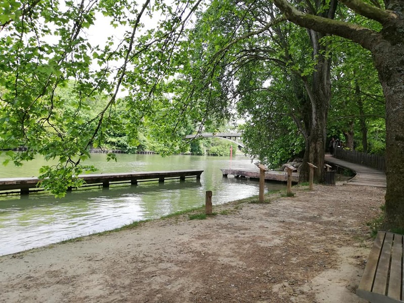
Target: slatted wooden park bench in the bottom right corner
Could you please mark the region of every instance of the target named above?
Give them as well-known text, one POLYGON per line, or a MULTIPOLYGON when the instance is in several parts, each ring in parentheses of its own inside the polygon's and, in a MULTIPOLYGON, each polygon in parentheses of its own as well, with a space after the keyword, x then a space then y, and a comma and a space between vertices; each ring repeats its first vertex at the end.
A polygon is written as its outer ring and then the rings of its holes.
POLYGON ((403 301, 403 236, 379 231, 368 258, 357 295, 371 303, 403 301))

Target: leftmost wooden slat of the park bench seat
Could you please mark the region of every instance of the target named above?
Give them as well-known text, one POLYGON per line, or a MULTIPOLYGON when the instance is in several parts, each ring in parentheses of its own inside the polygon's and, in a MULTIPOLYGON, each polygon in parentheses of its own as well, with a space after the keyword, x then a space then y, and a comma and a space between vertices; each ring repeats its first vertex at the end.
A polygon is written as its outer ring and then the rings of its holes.
POLYGON ((384 233, 378 233, 370 251, 368 262, 365 267, 365 271, 362 275, 361 283, 359 283, 359 289, 364 291, 371 291, 377 263, 379 261, 380 249, 384 241, 384 233))

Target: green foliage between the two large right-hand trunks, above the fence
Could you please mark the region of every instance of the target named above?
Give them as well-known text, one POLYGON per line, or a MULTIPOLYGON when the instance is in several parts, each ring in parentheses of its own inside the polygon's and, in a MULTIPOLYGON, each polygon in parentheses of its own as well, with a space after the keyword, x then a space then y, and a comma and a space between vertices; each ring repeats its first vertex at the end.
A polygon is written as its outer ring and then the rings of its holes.
POLYGON ((335 49, 328 133, 339 139, 350 133, 358 151, 365 144, 368 153, 384 154, 385 100, 370 52, 340 37, 328 41, 335 49))

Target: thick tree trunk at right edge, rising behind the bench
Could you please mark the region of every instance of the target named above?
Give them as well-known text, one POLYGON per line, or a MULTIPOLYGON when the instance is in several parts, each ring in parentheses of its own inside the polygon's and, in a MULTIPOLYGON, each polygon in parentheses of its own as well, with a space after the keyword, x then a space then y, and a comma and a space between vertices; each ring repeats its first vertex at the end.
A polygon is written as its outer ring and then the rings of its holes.
POLYGON ((372 50, 386 97, 387 230, 404 231, 404 38, 381 41, 372 50))

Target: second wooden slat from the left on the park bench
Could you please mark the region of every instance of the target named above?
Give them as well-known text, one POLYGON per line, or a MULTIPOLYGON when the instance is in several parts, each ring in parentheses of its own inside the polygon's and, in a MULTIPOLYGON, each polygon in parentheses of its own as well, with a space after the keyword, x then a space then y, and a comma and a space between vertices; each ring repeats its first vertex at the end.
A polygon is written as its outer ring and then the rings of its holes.
POLYGON ((390 266, 391 243, 393 242, 393 234, 386 233, 384 238, 382 252, 380 254, 379 264, 377 266, 375 282, 373 283, 372 292, 386 294, 388 269, 390 266))

